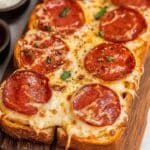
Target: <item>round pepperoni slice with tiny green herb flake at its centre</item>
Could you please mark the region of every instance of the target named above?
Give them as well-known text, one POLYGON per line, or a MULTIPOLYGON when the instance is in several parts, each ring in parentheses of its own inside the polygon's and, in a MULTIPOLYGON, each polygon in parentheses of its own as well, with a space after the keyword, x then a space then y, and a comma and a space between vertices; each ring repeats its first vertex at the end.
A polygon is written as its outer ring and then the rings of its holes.
POLYGON ((104 43, 96 46, 85 57, 85 68, 105 81, 121 79, 135 67, 133 54, 121 44, 104 43))

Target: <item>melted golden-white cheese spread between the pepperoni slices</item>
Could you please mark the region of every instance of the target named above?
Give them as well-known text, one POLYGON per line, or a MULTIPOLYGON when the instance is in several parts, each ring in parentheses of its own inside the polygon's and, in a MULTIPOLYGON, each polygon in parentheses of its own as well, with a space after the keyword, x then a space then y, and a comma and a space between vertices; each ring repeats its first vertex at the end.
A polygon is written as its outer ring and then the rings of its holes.
MULTIPOLYGON (((86 72, 84 68, 84 57, 85 55, 96 45, 105 42, 101 37, 96 36, 96 33, 99 29, 99 21, 94 20, 94 15, 99 11, 104 5, 111 6, 109 2, 104 3, 102 0, 83 0, 79 1, 81 7, 84 10, 86 23, 85 25, 78 29, 73 35, 63 37, 63 40, 67 43, 70 48, 70 52, 67 54, 67 59, 70 60, 71 65, 63 66, 62 68, 55 71, 53 74, 47 75, 50 79, 50 85, 63 85, 66 88, 63 92, 54 91, 51 100, 45 105, 39 105, 38 114, 28 117, 21 115, 14 111, 8 110, 4 105, 0 104, 1 110, 6 114, 5 117, 28 124, 33 127, 36 131, 38 129, 61 126, 65 129, 69 135, 75 135, 81 138, 95 137, 96 139, 101 139, 106 133, 109 133, 111 130, 117 131, 117 129, 128 120, 127 116, 127 101, 123 99, 122 93, 127 92, 133 97, 135 95, 135 89, 126 87, 125 82, 132 83, 133 85, 140 80, 140 77, 143 73, 142 65, 138 62, 138 56, 136 49, 143 45, 143 42, 148 40, 150 33, 150 10, 141 11, 146 16, 146 19, 149 23, 148 31, 143 33, 139 38, 134 41, 128 42, 125 44, 131 52, 134 54, 137 66, 134 71, 128 75, 126 78, 114 81, 114 82, 104 82, 86 72), (64 70, 71 72, 71 78, 67 81, 60 79, 61 74, 64 70), (83 76, 82 80, 79 79, 79 76, 83 76), (71 101, 68 98, 75 91, 86 84, 90 83, 101 83, 105 86, 109 86, 113 89, 120 98, 121 104, 121 114, 115 123, 112 126, 106 127, 93 127, 87 125, 86 123, 78 120, 72 111, 71 101)), ((109 7, 109 10, 114 9, 115 7, 109 7)), ((123 126, 123 125, 122 125, 123 126)), ((107 139, 107 138, 106 138, 107 139)), ((69 143, 69 141, 68 141, 69 143)))

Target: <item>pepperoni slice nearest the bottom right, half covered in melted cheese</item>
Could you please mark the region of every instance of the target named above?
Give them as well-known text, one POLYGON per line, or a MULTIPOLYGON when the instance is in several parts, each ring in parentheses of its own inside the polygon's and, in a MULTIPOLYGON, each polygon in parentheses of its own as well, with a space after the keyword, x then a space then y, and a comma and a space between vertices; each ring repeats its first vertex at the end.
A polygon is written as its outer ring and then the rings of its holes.
POLYGON ((75 115, 97 127, 112 125, 121 112, 117 94, 100 84, 82 87, 72 100, 75 115))

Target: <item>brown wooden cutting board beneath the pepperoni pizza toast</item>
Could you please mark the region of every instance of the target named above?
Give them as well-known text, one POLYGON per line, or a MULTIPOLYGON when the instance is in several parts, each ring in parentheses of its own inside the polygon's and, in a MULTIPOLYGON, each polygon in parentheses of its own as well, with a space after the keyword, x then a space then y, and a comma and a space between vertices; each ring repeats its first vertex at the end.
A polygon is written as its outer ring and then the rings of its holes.
MULTIPOLYGON (((35 5, 35 0, 31 0, 31 5, 29 7, 33 7, 35 5)), ((27 17, 30 15, 31 9, 28 10, 27 14, 23 17, 27 17)), ((18 23, 18 28, 21 28, 21 32, 23 32, 23 25, 26 20, 23 20, 18 23)), ((15 24, 15 23, 14 23, 15 24)), ((12 27, 12 32, 14 32, 14 28, 12 27)), ((17 26, 15 26, 16 29, 17 26)), ((21 35, 21 32, 19 33, 21 35)), ((19 37, 19 34, 13 38, 13 42, 19 37)), ((11 44, 11 51, 8 54, 7 62, 12 57, 14 45, 11 44)), ((7 78, 7 76, 13 72, 13 61, 10 60, 10 63, 4 63, 0 65, 0 76, 3 76, 3 79, 7 78), (6 66, 8 65, 7 69, 6 66), (3 68, 1 68, 3 66, 3 68), (4 75, 3 75, 4 73, 4 75)), ((116 144, 109 145, 108 147, 111 150, 140 150, 140 144, 143 138, 146 122, 147 122, 147 114, 150 107, 150 53, 145 62, 145 73, 142 77, 140 83, 140 89, 137 92, 137 96, 133 101, 131 113, 129 116, 128 127, 122 136, 122 138, 116 142, 116 144)), ((56 142, 56 141, 55 141, 56 142)), ((55 145, 55 144, 54 144, 55 145)), ((54 150, 59 149, 55 148, 52 145, 44 145, 44 144, 36 144, 29 141, 15 140, 6 134, 0 131, 0 149, 1 150, 54 150)), ((103 149, 105 150, 105 149, 103 149)))

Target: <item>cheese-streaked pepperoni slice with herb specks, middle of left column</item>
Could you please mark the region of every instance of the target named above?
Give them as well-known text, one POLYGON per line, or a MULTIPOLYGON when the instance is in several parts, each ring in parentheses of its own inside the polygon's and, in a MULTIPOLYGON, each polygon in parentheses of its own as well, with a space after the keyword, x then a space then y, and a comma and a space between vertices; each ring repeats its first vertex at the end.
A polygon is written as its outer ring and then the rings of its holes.
POLYGON ((51 73, 63 65, 69 51, 61 39, 43 31, 29 32, 19 44, 21 66, 42 74, 51 73))

